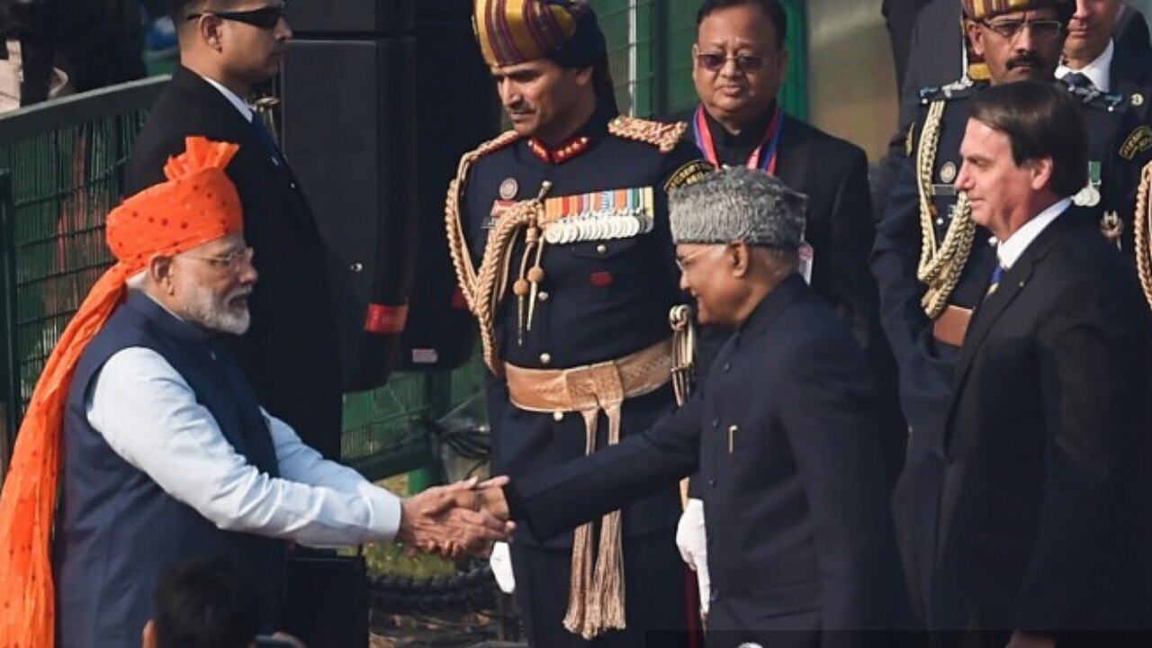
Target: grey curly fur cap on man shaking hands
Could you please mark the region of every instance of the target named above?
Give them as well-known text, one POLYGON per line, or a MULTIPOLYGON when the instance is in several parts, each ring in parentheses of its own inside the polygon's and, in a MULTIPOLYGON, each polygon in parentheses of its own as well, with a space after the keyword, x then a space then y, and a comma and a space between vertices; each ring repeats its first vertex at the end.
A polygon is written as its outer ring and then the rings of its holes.
POLYGON ((808 196, 763 171, 733 167, 668 194, 675 243, 730 243, 796 250, 808 196))

